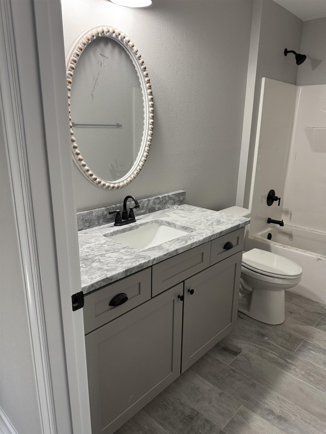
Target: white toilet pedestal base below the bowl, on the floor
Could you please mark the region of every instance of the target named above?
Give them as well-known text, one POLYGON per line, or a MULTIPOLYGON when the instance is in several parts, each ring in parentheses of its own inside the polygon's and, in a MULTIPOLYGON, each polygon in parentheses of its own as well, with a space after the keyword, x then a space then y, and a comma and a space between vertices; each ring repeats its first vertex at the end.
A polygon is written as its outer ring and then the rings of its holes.
POLYGON ((239 303, 238 311, 261 323, 278 325, 285 320, 285 291, 255 290, 249 303, 239 303))

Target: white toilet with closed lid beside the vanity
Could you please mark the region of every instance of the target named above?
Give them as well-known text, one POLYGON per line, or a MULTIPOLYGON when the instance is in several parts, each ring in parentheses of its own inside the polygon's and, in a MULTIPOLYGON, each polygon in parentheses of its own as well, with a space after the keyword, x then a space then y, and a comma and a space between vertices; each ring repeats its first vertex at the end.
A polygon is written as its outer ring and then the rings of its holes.
MULTIPOLYGON (((221 212, 250 217, 241 207, 221 212)), ((301 276, 302 268, 284 256, 256 248, 243 252, 238 310, 265 324, 282 324, 285 291, 300 283, 301 276)))

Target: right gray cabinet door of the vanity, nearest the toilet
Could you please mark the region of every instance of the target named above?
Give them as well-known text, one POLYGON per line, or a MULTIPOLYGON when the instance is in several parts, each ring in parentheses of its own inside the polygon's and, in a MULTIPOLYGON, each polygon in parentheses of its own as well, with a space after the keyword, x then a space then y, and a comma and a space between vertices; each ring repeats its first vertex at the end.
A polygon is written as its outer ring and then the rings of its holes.
POLYGON ((236 253, 185 281, 181 372, 235 325, 241 258, 236 253))

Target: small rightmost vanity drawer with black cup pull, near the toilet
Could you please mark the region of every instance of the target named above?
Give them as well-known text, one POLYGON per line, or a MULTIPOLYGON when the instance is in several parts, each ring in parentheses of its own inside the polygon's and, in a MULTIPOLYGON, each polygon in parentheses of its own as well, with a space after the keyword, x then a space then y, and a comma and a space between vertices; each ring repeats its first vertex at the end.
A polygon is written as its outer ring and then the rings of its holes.
POLYGON ((210 265, 216 264, 243 249, 244 227, 211 241, 210 265), (227 244, 231 243, 231 244, 227 244))

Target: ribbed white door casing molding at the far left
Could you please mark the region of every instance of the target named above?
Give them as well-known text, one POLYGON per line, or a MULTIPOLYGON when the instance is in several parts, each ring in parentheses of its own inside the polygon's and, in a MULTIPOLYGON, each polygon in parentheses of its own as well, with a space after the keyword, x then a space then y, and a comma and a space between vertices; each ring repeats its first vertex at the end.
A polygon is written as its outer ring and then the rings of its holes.
MULTIPOLYGON (((57 432, 56 412, 51 388, 51 370, 42 302, 42 280, 36 243, 30 171, 26 158, 25 129, 22 119, 22 100, 17 67, 12 2, 0 0, 0 12, 2 17, 0 54, 2 59, 5 59, 4 65, 6 65, 0 75, 0 114, 3 117, 4 124, 5 148, 19 244, 20 271, 23 279, 23 292, 33 351, 39 417, 43 431, 54 433, 57 432)), ((28 21, 28 18, 26 18, 26 22, 33 25, 28 21)), ((5 418, 4 415, 5 413, 2 412, 0 419, 7 420, 9 423, 9 419, 5 418)))

